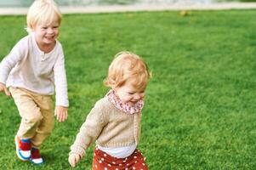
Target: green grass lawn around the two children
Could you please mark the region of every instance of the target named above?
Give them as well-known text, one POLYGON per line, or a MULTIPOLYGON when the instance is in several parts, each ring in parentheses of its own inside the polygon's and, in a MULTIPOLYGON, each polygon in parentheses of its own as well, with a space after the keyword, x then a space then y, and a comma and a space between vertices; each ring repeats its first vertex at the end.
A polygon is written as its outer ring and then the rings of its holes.
MULTIPOLYGON (((0 95, 0 169, 69 169, 69 147, 95 101, 114 54, 130 50, 148 63, 139 149, 152 170, 256 168, 256 11, 65 15, 70 109, 43 144, 43 167, 14 153, 20 116, 0 95)), ((0 17, 0 58, 21 37, 25 16, 0 17)), ((90 169, 92 150, 76 169, 90 169)))

